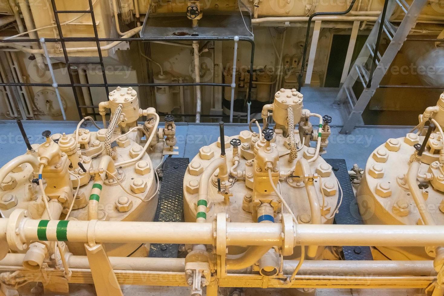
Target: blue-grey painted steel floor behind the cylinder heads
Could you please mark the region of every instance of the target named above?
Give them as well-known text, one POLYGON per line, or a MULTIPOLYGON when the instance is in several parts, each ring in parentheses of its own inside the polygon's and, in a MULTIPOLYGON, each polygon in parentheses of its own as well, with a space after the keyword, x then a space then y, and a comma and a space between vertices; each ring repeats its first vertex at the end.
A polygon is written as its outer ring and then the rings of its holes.
MULTIPOLYGON (((405 136, 409 127, 385 127, 385 126, 358 126, 350 135, 339 134, 343 118, 347 111, 343 105, 333 104, 337 94, 336 88, 309 88, 302 89, 304 93, 304 108, 313 113, 330 115, 332 121, 332 135, 325 158, 343 158, 348 167, 357 163, 365 166, 366 160, 373 150, 384 143, 388 138, 405 136)), ((74 121, 24 121, 24 128, 28 138, 33 143, 42 143, 44 138, 42 132, 46 129, 52 133, 72 133, 77 122, 74 121)), ((313 121, 313 124, 316 124, 313 121)), ((98 123, 100 126, 100 122, 98 123)), ((217 141, 219 128, 217 124, 211 123, 177 123, 177 146, 178 157, 193 158, 199 148, 217 141)), ((91 131, 96 130, 94 126, 89 127, 91 131)), ((225 134, 227 136, 238 135, 240 131, 248 129, 243 124, 226 124, 225 134)), ((6 164, 12 158, 24 154, 26 146, 15 121, 0 121, 0 166, 6 164)))

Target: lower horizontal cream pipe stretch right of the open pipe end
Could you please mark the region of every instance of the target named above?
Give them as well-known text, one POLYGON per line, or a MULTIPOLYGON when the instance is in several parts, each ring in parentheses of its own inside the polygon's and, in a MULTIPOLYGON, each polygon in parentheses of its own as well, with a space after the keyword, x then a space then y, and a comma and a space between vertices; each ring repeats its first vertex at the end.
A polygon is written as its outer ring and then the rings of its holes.
MULTIPOLYGON (((291 274, 298 261, 285 260, 284 274, 291 274)), ((0 261, 1 264, 1 261, 0 261)), ((345 275, 345 276, 435 276, 432 260, 420 261, 337 261, 305 260, 300 275, 345 275)))

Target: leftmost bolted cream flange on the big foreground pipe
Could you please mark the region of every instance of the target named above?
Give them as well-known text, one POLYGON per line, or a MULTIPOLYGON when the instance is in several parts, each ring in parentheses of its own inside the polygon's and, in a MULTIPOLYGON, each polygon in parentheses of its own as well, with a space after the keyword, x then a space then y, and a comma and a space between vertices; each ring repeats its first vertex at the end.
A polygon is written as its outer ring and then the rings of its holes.
POLYGON ((29 217, 27 210, 14 210, 9 216, 8 225, 6 226, 6 238, 9 248, 14 251, 25 251, 28 249, 28 243, 25 238, 24 231, 21 231, 23 222, 29 217))

